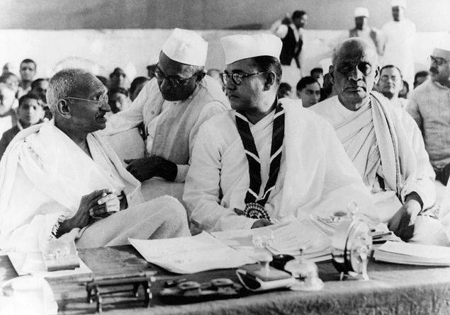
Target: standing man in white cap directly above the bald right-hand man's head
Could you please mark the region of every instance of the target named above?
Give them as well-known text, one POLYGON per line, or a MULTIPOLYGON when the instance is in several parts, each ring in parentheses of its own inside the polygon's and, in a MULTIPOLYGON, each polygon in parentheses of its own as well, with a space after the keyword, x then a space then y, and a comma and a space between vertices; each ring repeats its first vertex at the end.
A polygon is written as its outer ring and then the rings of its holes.
POLYGON ((349 38, 364 38, 365 40, 372 41, 376 47, 376 52, 378 55, 381 55, 383 52, 381 32, 377 28, 369 25, 369 10, 361 6, 355 8, 354 18, 355 27, 349 30, 349 38))

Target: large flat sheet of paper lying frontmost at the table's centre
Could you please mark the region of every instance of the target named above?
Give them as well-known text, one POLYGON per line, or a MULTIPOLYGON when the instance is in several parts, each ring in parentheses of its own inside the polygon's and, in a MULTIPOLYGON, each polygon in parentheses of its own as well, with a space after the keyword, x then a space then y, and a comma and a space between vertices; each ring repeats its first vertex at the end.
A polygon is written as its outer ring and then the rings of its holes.
POLYGON ((198 273, 205 270, 238 268, 255 260, 245 256, 203 231, 196 236, 175 239, 129 239, 149 263, 172 273, 198 273))

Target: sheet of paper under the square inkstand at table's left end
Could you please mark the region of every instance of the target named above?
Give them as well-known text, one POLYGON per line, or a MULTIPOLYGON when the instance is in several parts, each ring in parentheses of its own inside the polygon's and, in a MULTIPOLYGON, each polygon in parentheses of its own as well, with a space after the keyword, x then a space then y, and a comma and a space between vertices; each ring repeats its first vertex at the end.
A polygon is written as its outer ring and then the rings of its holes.
POLYGON ((92 270, 79 259, 79 268, 73 270, 47 271, 43 255, 40 252, 9 252, 9 260, 18 275, 40 275, 42 277, 67 277, 71 275, 89 275, 92 270))

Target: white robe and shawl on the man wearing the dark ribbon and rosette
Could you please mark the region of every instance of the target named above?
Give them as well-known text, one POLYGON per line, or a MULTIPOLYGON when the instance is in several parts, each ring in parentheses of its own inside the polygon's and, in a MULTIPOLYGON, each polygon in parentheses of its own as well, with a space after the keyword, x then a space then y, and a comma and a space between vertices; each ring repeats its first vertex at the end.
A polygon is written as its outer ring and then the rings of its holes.
MULTIPOLYGON (((283 106, 281 167, 265 206, 271 219, 330 214, 347 210, 350 201, 356 201, 361 209, 371 208, 369 190, 330 124, 304 109, 300 101, 283 99, 283 106)), ((261 191, 269 173, 273 118, 268 115, 250 127, 261 158, 261 191)), ((208 120, 198 132, 184 190, 191 222, 204 230, 249 229, 255 220, 234 212, 234 208, 244 210, 248 188, 247 157, 234 111, 229 110, 208 120)))

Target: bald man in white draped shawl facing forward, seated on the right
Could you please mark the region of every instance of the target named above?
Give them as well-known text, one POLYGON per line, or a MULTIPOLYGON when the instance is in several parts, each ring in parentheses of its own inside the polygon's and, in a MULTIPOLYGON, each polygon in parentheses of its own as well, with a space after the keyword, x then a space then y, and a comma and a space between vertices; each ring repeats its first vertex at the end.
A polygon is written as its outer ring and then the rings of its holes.
POLYGON ((371 93, 379 76, 375 47, 360 38, 344 40, 334 49, 332 62, 338 95, 311 109, 332 123, 376 197, 382 221, 404 240, 414 232, 411 241, 449 244, 444 235, 432 233, 441 233, 439 221, 421 216, 415 226, 417 214, 434 205, 434 171, 414 120, 381 94, 371 93))

